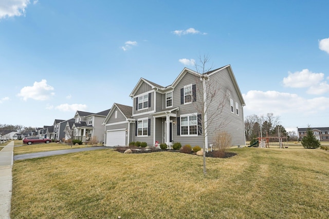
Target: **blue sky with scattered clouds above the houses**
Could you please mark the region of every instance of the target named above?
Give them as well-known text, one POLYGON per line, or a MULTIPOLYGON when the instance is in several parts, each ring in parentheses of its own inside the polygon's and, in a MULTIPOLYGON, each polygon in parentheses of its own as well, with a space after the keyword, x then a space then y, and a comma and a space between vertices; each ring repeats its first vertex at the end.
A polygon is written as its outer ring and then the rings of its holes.
POLYGON ((132 105, 210 56, 230 64, 245 116, 329 126, 328 1, 0 2, 0 124, 42 127, 132 105))

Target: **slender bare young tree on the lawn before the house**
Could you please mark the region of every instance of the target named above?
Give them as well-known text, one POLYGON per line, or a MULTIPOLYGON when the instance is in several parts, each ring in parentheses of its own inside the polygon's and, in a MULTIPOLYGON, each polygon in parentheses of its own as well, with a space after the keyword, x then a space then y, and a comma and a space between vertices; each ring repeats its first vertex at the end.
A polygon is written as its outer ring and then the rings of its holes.
POLYGON ((203 136, 203 172, 205 175, 207 174, 207 136, 217 132, 221 127, 224 127, 228 124, 228 121, 222 117, 222 112, 226 103, 227 92, 220 92, 221 86, 219 86, 215 80, 209 80, 208 73, 212 69, 212 66, 207 68, 209 61, 209 55, 204 55, 203 57, 199 56, 199 63, 195 63, 196 72, 200 74, 200 77, 197 78, 197 80, 199 80, 197 83, 199 86, 196 86, 196 97, 198 101, 193 102, 193 105, 198 114, 201 115, 198 117, 198 129, 202 130, 203 136), (215 98, 216 102, 214 102, 215 98), (209 129, 210 126, 212 127, 211 129, 209 129))

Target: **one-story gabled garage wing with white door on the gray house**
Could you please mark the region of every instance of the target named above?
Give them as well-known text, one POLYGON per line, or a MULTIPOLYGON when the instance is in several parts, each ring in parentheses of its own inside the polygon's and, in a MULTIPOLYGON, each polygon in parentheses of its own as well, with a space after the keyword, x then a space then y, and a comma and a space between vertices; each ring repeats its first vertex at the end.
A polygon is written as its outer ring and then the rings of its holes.
POLYGON ((132 118, 133 107, 113 104, 103 125, 105 126, 105 146, 129 145, 134 138, 135 120, 132 118))

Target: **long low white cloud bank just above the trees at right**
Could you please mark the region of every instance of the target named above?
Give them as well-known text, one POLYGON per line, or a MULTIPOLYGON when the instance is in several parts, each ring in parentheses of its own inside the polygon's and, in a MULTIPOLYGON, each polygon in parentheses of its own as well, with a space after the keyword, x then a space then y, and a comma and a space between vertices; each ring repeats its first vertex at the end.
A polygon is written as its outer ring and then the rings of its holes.
POLYGON ((272 112, 276 115, 295 114, 302 116, 329 110, 329 98, 327 97, 305 99, 292 93, 251 90, 247 94, 243 94, 243 98, 246 102, 245 115, 261 115, 272 112))

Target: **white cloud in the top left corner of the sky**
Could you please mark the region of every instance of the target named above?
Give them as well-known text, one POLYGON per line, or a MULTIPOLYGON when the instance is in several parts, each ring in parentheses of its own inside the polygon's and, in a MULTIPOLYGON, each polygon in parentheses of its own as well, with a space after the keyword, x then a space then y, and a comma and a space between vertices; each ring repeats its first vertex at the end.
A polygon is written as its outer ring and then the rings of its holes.
POLYGON ((28 4, 30 4, 30 0, 1 0, 0 19, 25 15, 25 8, 28 4))

